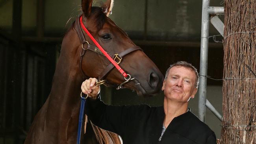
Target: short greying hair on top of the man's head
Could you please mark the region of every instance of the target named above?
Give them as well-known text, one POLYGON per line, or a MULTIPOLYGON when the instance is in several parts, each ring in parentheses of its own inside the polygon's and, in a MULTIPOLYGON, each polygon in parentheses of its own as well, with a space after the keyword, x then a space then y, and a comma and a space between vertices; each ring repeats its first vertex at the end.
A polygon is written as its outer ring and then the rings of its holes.
POLYGON ((173 65, 170 65, 170 67, 166 70, 166 73, 165 73, 165 80, 167 79, 168 75, 169 75, 169 71, 172 67, 174 66, 184 66, 186 68, 189 68, 190 70, 192 70, 193 72, 195 72, 195 75, 196 75, 196 79, 195 79, 195 87, 197 88, 198 87, 198 84, 199 84, 199 75, 198 75, 198 72, 197 72, 197 69, 191 65, 190 63, 187 63, 186 61, 178 61, 177 63, 174 63, 173 65))

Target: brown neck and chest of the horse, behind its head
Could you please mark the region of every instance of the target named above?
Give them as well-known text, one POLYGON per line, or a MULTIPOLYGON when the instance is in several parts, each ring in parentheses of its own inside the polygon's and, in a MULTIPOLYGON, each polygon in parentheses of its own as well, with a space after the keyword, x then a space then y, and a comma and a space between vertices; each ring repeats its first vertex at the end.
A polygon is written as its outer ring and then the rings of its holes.
POLYGON ((79 70, 79 45, 76 31, 70 28, 63 38, 51 92, 35 116, 26 144, 75 143, 83 81, 79 70))

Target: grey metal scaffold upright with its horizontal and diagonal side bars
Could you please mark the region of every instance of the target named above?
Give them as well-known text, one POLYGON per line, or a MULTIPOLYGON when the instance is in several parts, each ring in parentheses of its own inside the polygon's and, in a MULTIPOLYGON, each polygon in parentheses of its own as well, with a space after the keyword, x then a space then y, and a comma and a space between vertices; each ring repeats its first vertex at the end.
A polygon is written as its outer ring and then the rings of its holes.
POLYGON ((210 0, 202 1, 202 26, 201 26, 201 49, 200 49, 200 78, 199 78, 199 101, 198 101, 198 116, 202 122, 205 121, 205 107, 207 106, 210 111, 222 120, 221 114, 211 105, 206 99, 207 88, 207 66, 208 66, 208 38, 209 38, 209 23, 223 35, 224 24, 217 17, 219 14, 224 13, 224 7, 210 7, 210 0), (215 15, 211 16, 210 15, 215 15))

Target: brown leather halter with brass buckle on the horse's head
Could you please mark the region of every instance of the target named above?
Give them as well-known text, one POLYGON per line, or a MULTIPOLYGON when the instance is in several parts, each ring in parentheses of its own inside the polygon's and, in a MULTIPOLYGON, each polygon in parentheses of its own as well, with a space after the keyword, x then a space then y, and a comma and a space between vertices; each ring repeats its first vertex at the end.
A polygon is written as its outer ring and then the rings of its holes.
MULTIPOLYGON (((76 28, 76 32, 78 33, 78 36, 80 38, 80 41, 82 42, 82 51, 80 53, 80 62, 79 62, 79 67, 80 70, 83 74, 83 76, 85 78, 89 78, 88 76, 85 75, 85 73, 83 72, 82 69, 82 59, 83 59, 83 55, 85 54, 86 50, 91 50, 92 52, 96 52, 97 54, 100 55, 104 55, 102 54, 102 52, 100 51, 99 48, 97 48, 96 46, 93 46, 91 44, 89 44, 88 41, 86 41, 85 36, 83 35, 81 26, 80 26, 80 22, 79 22, 79 18, 76 18, 76 22, 75 22, 75 28, 76 28)), ((131 48, 128 48, 124 51, 122 51, 121 53, 118 54, 118 59, 122 59, 122 57, 124 57, 127 54, 130 54, 131 52, 134 52, 136 50, 141 50, 143 51, 139 46, 133 46, 131 48)), ((115 57, 117 57, 117 54, 111 54, 109 52, 107 52, 109 54, 110 57, 112 57, 112 59, 114 59, 115 57)), ((121 60, 120 60, 121 61, 121 60)), ((98 80, 102 80, 105 78, 105 76, 114 68, 114 65, 112 63, 110 63, 104 70, 103 72, 99 75, 98 80)))

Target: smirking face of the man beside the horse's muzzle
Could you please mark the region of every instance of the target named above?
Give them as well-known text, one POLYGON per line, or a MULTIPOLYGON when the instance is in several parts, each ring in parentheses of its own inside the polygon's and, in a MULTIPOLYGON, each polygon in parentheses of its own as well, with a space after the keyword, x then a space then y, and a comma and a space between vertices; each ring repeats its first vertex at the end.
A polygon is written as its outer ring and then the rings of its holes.
POLYGON ((177 102, 186 103, 195 97, 197 88, 195 87, 196 75, 191 69, 184 66, 174 66, 169 70, 167 79, 163 81, 162 90, 165 97, 177 102))

